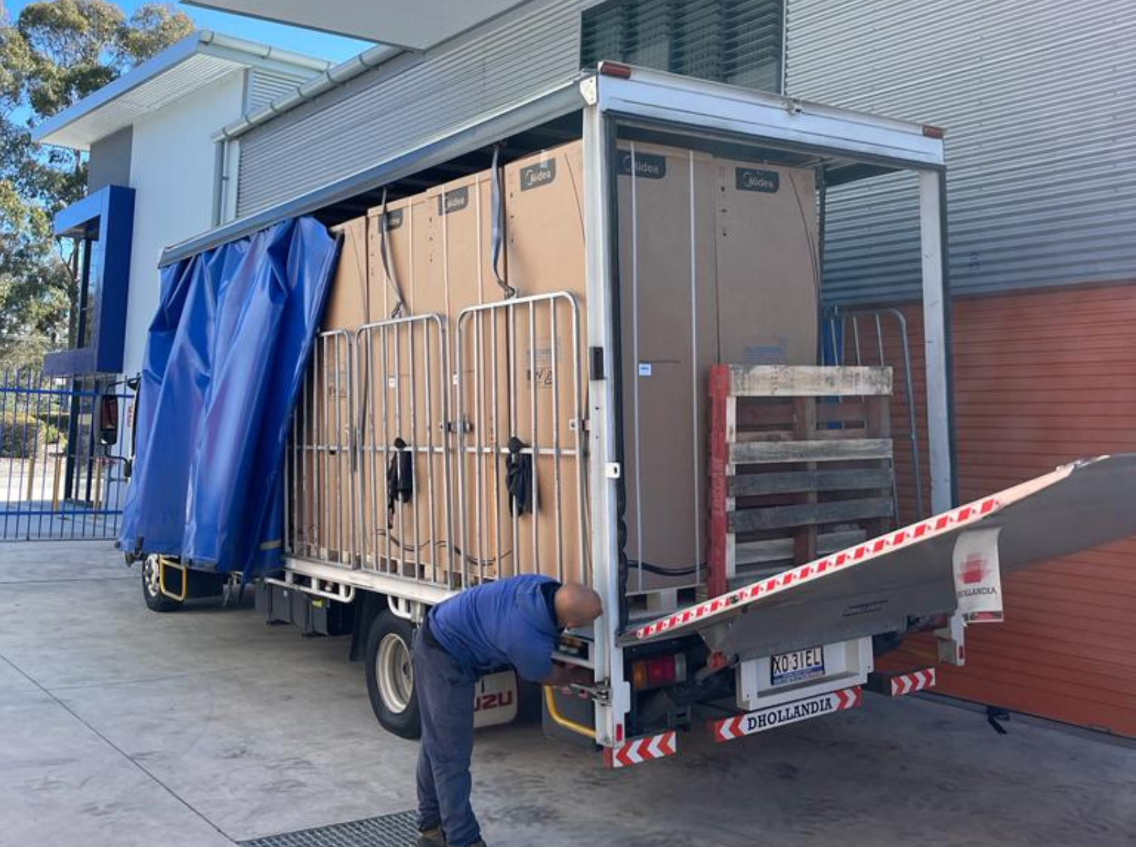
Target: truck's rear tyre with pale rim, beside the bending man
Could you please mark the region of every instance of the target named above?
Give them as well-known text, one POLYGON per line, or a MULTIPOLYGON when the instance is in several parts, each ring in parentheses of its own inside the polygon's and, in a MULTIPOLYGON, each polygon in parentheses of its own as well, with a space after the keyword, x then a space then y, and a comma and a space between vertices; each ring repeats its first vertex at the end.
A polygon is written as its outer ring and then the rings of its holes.
POLYGON ((410 665, 414 627, 390 609, 379 612, 367 634, 367 696, 383 729, 401 738, 418 738, 421 721, 410 665))

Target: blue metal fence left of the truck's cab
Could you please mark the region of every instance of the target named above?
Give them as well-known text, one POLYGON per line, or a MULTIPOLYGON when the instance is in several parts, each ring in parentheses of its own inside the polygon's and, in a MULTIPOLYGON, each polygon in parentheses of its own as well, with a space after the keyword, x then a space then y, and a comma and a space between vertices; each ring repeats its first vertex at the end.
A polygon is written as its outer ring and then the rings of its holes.
POLYGON ((117 536, 133 403, 115 377, 0 374, 0 542, 117 536))

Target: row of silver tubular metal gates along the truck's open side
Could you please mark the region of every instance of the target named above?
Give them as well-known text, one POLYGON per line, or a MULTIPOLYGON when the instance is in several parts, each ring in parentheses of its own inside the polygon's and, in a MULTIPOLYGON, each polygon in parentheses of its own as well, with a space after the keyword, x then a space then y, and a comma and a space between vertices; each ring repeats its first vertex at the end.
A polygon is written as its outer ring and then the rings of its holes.
POLYGON ((457 588, 588 581, 580 310, 566 293, 317 337, 285 464, 285 551, 457 588), (451 410, 456 410, 452 413, 451 410))

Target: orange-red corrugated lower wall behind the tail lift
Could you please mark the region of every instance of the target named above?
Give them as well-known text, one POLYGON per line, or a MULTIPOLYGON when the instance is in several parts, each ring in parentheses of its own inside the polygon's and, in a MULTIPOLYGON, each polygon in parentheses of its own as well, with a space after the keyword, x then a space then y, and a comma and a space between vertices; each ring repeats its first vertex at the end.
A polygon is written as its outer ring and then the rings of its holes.
MULTIPOLYGON (((920 313, 905 311, 918 350, 920 313)), ((1136 451, 1134 325, 1136 279, 955 301, 963 501, 1136 451)), ((939 665, 938 690, 1136 737, 1136 539, 1016 572, 1004 598, 1005 622, 967 630, 967 665, 939 665)), ((911 639, 880 664, 925 665, 934 649, 911 639)))

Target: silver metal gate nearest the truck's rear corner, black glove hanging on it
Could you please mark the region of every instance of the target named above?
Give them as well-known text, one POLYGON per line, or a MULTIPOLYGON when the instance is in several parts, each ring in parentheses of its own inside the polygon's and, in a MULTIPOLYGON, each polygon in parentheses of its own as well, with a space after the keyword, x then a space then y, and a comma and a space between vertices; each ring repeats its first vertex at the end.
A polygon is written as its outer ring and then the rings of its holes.
POLYGON ((579 305, 563 292, 458 316, 466 585, 517 573, 591 581, 579 334, 579 305))

